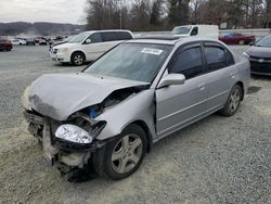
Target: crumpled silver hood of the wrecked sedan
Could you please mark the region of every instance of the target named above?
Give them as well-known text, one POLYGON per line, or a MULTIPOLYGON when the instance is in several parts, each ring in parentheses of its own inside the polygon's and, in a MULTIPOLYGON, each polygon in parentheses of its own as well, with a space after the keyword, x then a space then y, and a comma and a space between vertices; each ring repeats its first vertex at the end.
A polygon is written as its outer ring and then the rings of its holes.
POLYGON ((115 90, 144 85, 85 73, 48 74, 31 84, 29 105, 44 116, 65 120, 77 111, 103 102, 115 90))

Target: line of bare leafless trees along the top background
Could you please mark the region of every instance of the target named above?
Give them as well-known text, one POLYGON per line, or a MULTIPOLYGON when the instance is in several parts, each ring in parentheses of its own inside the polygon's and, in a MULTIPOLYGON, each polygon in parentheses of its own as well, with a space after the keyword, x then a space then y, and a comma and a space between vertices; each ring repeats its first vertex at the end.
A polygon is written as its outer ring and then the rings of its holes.
POLYGON ((271 27, 271 0, 87 0, 87 28, 165 30, 185 24, 271 27))

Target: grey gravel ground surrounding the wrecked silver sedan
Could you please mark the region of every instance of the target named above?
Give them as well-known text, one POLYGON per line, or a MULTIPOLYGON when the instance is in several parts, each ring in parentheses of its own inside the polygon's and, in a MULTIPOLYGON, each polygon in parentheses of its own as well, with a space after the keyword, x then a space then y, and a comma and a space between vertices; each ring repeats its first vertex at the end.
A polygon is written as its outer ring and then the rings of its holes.
POLYGON ((128 179, 69 183, 22 117, 35 78, 83 68, 54 64, 47 51, 0 52, 0 203, 271 203, 271 78, 253 78, 235 116, 214 114, 159 141, 128 179))

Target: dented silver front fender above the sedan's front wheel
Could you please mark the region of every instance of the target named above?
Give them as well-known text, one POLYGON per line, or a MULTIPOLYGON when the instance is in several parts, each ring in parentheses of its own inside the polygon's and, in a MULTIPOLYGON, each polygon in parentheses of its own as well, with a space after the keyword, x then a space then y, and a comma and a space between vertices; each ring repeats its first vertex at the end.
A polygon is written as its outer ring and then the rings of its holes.
POLYGON ((119 135, 128 125, 134 122, 143 122, 149 128, 152 140, 155 133, 155 104, 154 89, 143 90, 133 94, 118 105, 107 109, 98 116, 96 120, 105 120, 106 126, 98 136, 98 140, 105 140, 119 135))

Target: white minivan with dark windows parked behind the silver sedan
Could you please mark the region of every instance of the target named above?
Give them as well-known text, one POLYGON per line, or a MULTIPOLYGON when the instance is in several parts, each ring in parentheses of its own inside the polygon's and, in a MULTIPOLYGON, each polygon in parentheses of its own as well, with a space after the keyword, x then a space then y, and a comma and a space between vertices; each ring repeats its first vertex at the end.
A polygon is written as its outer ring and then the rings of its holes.
POLYGON ((86 61, 98 59, 124 40, 132 38, 131 31, 122 29, 85 31, 67 43, 54 47, 50 55, 53 61, 80 66, 86 61))

